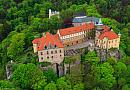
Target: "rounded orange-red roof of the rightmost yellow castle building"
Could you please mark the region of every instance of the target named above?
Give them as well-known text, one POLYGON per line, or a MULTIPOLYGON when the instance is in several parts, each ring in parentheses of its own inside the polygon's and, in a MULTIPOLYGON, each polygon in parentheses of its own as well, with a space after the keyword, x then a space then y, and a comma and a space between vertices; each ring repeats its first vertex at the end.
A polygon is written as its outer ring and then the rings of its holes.
POLYGON ((113 31, 107 31, 107 32, 104 32, 102 33, 100 36, 99 36, 99 39, 104 39, 105 37, 107 37, 109 40, 112 40, 112 39, 116 39, 118 38, 118 35, 113 32, 113 31))

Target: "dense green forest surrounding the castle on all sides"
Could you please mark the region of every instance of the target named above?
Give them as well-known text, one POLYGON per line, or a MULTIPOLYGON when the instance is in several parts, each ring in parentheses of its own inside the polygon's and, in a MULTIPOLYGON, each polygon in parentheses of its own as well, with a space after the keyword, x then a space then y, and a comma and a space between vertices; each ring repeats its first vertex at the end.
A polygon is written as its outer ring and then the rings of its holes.
MULTIPOLYGON (((75 57, 66 60, 71 64, 75 57)), ((0 90, 130 90, 130 0, 0 0, 0 90), (60 18, 49 19, 49 9, 60 18), (81 64, 62 77, 52 68, 43 71, 32 40, 69 27, 66 21, 82 12, 121 33, 121 59, 101 62, 95 51, 86 50, 81 64), (9 80, 8 62, 13 62, 9 80)))

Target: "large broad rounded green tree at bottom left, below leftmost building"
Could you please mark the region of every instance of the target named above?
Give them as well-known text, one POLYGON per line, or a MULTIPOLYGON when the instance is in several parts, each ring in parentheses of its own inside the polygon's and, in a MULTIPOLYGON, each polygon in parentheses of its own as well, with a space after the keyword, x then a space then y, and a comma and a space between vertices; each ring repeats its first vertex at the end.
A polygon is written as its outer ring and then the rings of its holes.
POLYGON ((46 85, 43 73, 34 64, 21 64, 13 72, 12 81, 22 89, 39 89, 46 85))

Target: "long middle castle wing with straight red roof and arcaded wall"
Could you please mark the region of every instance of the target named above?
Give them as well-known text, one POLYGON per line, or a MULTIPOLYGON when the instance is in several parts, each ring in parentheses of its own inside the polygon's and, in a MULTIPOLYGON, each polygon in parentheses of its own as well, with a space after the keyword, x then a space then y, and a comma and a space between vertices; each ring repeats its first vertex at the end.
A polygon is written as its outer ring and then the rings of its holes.
POLYGON ((58 30, 63 45, 72 46, 84 42, 94 36, 95 26, 93 23, 83 24, 81 26, 75 26, 71 28, 65 28, 58 30))

